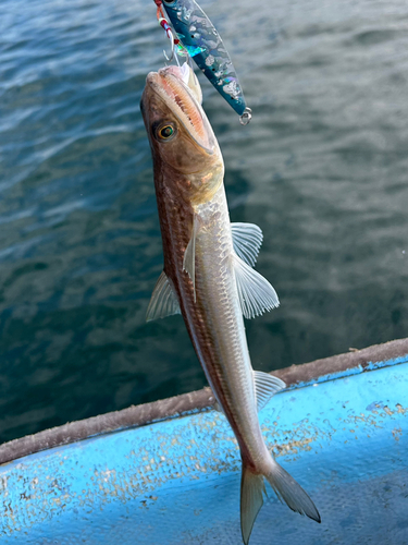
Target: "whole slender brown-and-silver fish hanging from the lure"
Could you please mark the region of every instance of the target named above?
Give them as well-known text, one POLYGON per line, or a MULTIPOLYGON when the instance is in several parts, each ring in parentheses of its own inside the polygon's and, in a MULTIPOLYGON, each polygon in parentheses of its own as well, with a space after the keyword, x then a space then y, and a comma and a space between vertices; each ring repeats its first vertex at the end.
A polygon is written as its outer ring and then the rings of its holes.
POLYGON ((147 76, 140 109, 153 159, 164 257, 147 320, 183 315, 217 408, 239 446, 240 526, 247 545, 263 504, 264 479, 292 510, 317 522, 320 514, 261 434, 258 411, 285 384, 252 370, 244 317, 276 307, 279 298, 254 268, 260 228, 230 221, 224 162, 201 98, 187 64, 147 76))

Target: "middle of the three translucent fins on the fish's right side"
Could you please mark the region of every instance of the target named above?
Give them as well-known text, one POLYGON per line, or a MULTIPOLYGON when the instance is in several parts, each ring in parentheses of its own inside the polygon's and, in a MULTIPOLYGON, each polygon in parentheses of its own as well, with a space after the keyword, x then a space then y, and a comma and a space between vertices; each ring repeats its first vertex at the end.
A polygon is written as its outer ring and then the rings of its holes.
POLYGON ((280 304, 275 290, 259 272, 236 254, 233 255, 240 308, 246 318, 260 316, 280 304))

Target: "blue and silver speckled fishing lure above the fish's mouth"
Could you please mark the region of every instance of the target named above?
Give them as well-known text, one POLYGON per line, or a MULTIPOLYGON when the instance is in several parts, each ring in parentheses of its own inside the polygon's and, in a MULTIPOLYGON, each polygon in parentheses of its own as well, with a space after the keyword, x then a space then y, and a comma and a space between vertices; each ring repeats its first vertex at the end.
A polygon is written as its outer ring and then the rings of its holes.
MULTIPOLYGON (((240 116, 244 125, 251 119, 251 109, 247 107, 238 76, 228 52, 214 25, 195 0, 154 0, 161 26, 178 48, 178 55, 188 55, 203 72, 209 82, 240 116), (173 36, 163 10, 176 33, 173 36)), ((170 59, 174 57, 174 49, 170 59)), ((168 60, 170 60, 166 57, 168 60)))

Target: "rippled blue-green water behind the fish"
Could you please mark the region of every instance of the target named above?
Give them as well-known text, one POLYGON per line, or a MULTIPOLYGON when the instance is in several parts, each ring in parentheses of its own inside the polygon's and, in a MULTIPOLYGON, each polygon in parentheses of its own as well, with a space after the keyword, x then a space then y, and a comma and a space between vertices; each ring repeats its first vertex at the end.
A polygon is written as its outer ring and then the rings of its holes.
MULTIPOLYGON (((408 331, 408 8, 202 0, 251 123, 201 78, 233 221, 264 234, 271 371, 408 331)), ((162 268, 139 100, 168 48, 143 0, 0 3, 0 441, 206 384, 162 268)))

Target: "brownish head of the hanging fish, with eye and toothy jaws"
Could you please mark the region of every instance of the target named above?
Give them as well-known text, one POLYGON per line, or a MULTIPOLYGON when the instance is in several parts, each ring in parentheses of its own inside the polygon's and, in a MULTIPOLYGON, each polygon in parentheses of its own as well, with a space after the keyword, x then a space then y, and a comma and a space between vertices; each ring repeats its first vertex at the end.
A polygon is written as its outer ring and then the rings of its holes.
POLYGON ((224 172, 201 98, 198 80, 185 63, 150 72, 140 102, 154 168, 168 169, 169 183, 173 180, 195 202, 210 198, 224 172))

